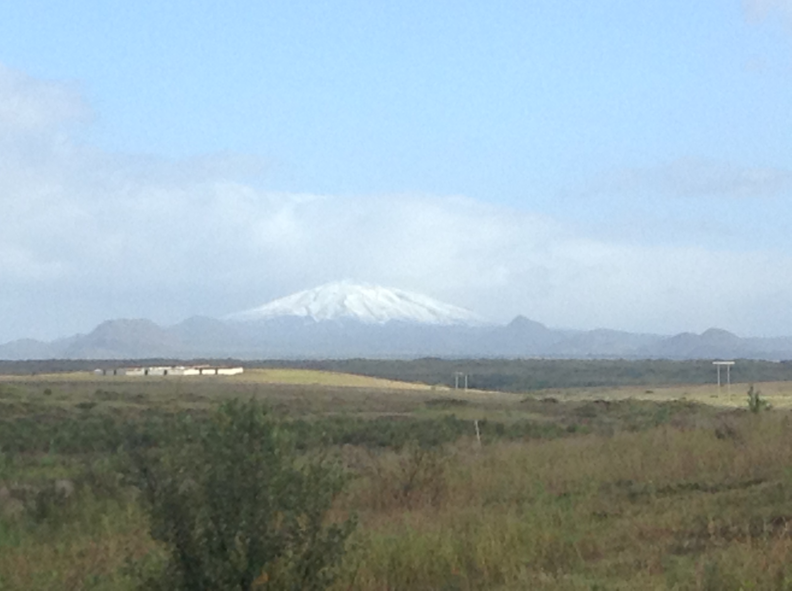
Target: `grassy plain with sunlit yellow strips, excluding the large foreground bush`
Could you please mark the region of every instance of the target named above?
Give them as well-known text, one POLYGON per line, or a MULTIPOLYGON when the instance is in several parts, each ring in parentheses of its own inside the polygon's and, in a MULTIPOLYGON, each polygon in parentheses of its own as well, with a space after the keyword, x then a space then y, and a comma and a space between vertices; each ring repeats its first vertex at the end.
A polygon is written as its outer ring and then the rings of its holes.
POLYGON ((130 565, 160 550, 114 429, 232 397, 317 427, 354 475, 334 509, 359 519, 336 589, 792 589, 792 384, 757 386, 774 410, 748 412, 746 385, 2 377, 0 589, 134 589, 130 565), (74 494, 42 500, 58 479, 74 494))

